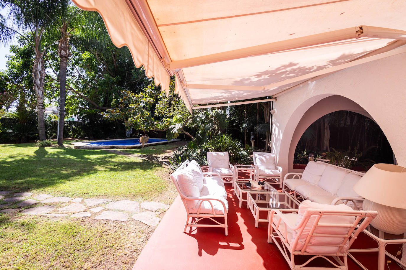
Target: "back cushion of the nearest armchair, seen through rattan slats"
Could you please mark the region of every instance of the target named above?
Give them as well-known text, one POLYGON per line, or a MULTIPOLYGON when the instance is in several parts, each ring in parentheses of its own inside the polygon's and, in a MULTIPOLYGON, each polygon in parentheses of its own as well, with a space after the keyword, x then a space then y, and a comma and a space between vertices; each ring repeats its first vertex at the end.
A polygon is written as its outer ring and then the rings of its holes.
MULTIPOLYGON (((308 208, 315 208, 315 209, 320 209, 324 211, 351 211, 352 208, 350 206, 347 206, 345 204, 339 204, 339 205, 328 205, 328 204, 319 204, 317 202, 311 202, 309 200, 303 201, 299 205, 299 211, 298 211, 298 218, 296 220, 296 226, 299 225, 300 221, 303 218, 304 212, 308 208)), ((310 230, 313 226, 313 223, 316 219, 316 215, 312 215, 309 218, 309 221, 304 227, 304 230, 302 234, 300 235, 300 238, 298 240, 298 244, 296 245, 295 250, 301 250, 304 246, 304 243, 306 242, 307 236, 309 236, 310 230)), ((319 223, 340 223, 340 224, 353 224, 355 221, 354 216, 343 216, 343 215, 323 215, 319 223)), ((316 227, 314 233, 316 234, 347 234, 350 229, 348 227, 316 227)), ((292 235, 292 240, 291 244, 293 244, 294 240, 297 237, 297 232, 294 232, 292 235)), ((309 245, 306 247, 305 251, 311 252, 311 253, 316 253, 316 254, 328 254, 328 253, 336 253, 339 249, 339 247, 331 247, 331 246, 323 246, 323 244, 330 244, 330 245, 338 245, 343 242, 344 238, 341 237, 335 237, 335 236, 312 236, 310 239, 310 244, 319 244, 319 246, 315 245, 309 245)), ((344 246, 343 251, 347 251, 349 248, 349 243, 348 241, 346 242, 344 246)))

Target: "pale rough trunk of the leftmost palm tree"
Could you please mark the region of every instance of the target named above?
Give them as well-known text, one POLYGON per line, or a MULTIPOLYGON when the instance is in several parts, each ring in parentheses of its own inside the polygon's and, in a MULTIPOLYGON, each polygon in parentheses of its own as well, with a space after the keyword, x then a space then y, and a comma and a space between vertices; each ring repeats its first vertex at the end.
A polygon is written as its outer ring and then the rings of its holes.
POLYGON ((38 134, 39 140, 45 140, 45 121, 44 121, 44 79, 45 69, 41 51, 35 49, 34 65, 32 67, 32 79, 34 81, 34 91, 37 96, 38 111, 38 134))

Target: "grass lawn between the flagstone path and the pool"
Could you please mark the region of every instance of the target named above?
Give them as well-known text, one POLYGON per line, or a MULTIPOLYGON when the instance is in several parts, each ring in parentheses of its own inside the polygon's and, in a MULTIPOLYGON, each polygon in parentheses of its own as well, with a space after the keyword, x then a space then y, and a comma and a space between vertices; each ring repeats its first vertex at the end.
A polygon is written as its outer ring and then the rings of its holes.
POLYGON ((0 190, 153 200, 170 184, 162 179, 167 169, 153 155, 170 153, 173 147, 120 151, 141 154, 129 156, 31 143, 0 145, 0 190))

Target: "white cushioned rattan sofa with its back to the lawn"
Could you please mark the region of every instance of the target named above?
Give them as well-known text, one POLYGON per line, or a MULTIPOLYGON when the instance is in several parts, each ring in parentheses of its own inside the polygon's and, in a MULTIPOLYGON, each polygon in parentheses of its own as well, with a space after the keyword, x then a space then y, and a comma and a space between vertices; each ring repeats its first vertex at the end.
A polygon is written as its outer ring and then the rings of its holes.
POLYGON ((171 179, 186 209, 187 227, 222 227, 227 235, 228 202, 220 174, 201 171, 199 164, 186 160, 172 174, 171 179), (224 223, 220 221, 224 218, 224 223), (199 223, 211 219, 213 224, 199 223))

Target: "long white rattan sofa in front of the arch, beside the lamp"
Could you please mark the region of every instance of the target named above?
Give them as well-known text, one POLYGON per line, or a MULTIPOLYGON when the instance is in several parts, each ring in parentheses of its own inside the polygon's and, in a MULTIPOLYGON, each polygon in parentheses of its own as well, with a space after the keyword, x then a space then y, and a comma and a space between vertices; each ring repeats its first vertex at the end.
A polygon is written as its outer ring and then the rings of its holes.
POLYGON ((285 175, 283 191, 290 192, 298 201, 311 200, 321 204, 344 203, 355 210, 361 210, 363 198, 353 187, 363 175, 362 172, 311 161, 303 173, 291 172, 285 175))

